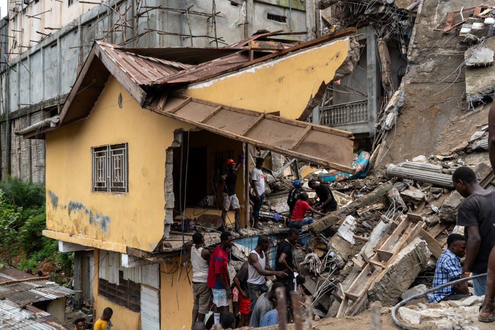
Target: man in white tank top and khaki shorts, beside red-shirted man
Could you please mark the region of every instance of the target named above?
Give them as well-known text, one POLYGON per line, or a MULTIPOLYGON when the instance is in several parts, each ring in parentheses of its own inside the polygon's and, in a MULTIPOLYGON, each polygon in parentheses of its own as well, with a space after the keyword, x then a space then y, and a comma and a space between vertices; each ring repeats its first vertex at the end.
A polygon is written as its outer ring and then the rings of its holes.
POLYGON ((204 248, 204 237, 200 233, 193 235, 193 240, 184 244, 186 252, 191 253, 193 265, 193 324, 196 321, 204 321, 208 313, 211 289, 208 287, 208 265, 210 263, 210 251, 204 248))

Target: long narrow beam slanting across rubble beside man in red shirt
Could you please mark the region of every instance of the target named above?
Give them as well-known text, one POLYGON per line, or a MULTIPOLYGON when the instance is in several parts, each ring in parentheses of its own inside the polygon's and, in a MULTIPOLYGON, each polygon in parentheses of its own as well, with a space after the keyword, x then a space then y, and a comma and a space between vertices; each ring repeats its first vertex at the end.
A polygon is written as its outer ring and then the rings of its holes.
POLYGON ((332 227, 335 223, 342 217, 347 216, 363 206, 372 204, 378 200, 381 196, 385 195, 387 191, 393 188, 390 181, 381 184, 375 190, 371 191, 369 194, 362 196, 351 202, 349 205, 341 207, 335 212, 332 212, 320 220, 309 225, 308 229, 313 233, 318 233, 332 227))

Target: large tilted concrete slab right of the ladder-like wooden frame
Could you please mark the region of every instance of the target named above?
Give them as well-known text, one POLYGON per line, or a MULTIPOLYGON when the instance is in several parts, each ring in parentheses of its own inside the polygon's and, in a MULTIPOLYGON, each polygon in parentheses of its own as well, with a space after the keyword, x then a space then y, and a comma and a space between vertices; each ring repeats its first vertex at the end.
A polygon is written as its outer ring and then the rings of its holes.
POLYGON ((380 300, 384 306, 394 306, 428 264, 430 255, 426 241, 416 237, 371 284, 368 301, 380 300))

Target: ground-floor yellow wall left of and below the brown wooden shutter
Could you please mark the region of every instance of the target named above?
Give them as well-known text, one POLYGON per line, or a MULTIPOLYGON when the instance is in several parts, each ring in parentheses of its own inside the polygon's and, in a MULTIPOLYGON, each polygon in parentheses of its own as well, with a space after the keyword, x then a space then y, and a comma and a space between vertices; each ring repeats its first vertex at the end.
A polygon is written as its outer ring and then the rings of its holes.
MULTIPOLYGON (((95 297, 95 321, 103 314, 106 307, 113 310, 111 322, 112 330, 138 330, 141 329, 140 313, 133 312, 127 308, 117 305, 114 302, 108 301, 98 294, 98 274, 99 274, 99 249, 95 249, 95 278, 93 280, 93 296, 95 297)), ((145 329, 143 329, 145 330, 145 329)))

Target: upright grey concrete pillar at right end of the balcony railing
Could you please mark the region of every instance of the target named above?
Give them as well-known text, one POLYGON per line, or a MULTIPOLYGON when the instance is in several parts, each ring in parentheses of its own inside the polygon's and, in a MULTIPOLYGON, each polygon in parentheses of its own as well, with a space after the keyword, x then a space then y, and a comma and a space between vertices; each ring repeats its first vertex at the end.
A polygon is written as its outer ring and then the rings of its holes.
POLYGON ((376 35, 373 29, 368 27, 366 31, 366 72, 368 94, 368 128, 370 135, 375 131, 376 116, 380 109, 380 78, 376 53, 376 35))

